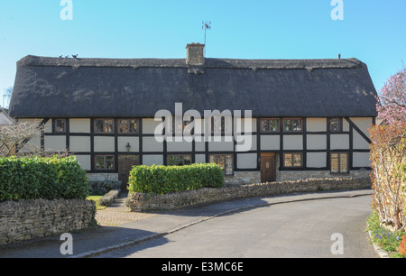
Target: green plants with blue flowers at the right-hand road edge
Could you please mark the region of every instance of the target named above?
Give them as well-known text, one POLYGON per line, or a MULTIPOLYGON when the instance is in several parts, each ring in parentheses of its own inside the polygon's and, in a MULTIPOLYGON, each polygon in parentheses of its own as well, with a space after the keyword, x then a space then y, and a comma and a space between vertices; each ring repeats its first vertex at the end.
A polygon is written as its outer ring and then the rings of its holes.
POLYGON ((371 238, 374 244, 381 247, 385 252, 389 254, 391 258, 405 258, 399 253, 399 246, 403 235, 406 235, 403 231, 391 232, 384 228, 379 221, 379 216, 374 211, 368 216, 367 231, 371 231, 371 238))

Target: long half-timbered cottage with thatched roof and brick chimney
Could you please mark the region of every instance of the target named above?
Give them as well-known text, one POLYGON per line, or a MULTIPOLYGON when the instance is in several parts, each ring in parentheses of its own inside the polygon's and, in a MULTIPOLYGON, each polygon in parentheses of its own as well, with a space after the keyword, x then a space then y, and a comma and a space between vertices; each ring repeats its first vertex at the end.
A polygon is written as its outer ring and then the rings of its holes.
POLYGON ((134 164, 212 161, 227 183, 369 174, 376 92, 363 62, 205 59, 203 47, 188 44, 186 60, 27 56, 10 114, 41 124, 30 143, 74 153, 90 179, 125 182, 134 164), (194 139, 159 141, 165 119, 155 114, 174 115, 176 103, 201 114, 180 125, 193 122, 194 139), (223 139, 205 141, 205 110, 240 110, 243 123, 251 111, 251 128, 240 133, 251 135, 249 149, 224 139, 224 121, 210 122, 223 139))

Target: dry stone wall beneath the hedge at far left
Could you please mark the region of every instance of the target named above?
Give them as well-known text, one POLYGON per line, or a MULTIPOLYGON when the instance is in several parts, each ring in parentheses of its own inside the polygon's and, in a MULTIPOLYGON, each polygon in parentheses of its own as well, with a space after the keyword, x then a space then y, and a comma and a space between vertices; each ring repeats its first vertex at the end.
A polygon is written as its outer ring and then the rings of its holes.
POLYGON ((0 203, 0 244, 69 233, 94 225, 96 205, 91 200, 23 200, 0 203))

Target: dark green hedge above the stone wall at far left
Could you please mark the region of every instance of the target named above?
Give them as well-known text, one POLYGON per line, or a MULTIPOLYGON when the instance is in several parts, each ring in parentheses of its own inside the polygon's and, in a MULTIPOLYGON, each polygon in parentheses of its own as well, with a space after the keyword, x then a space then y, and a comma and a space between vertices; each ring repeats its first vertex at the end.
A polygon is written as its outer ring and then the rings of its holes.
POLYGON ((0 158, 0 201, 87 195, 88 178, 74 156, 0 158))

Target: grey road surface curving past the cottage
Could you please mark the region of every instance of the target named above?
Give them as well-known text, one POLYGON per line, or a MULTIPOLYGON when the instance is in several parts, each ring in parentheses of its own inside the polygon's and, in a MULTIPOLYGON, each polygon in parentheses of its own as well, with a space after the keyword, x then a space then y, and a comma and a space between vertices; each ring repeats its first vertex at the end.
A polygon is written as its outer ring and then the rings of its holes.
POLYGON ((257 207, 98 257, 376 258, 364 231, 371 196, 257 207))

